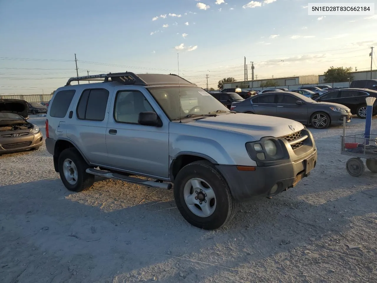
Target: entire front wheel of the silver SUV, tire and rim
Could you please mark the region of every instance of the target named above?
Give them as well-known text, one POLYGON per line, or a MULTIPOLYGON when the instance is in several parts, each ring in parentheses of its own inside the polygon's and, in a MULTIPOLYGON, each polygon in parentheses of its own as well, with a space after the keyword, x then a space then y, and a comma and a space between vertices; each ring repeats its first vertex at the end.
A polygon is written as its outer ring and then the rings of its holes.
POLYGON ((190 163, 178 172, 174 198, 185 220, 206 230, 221 228, 238 209, 224 177, 205 160, 190 163))

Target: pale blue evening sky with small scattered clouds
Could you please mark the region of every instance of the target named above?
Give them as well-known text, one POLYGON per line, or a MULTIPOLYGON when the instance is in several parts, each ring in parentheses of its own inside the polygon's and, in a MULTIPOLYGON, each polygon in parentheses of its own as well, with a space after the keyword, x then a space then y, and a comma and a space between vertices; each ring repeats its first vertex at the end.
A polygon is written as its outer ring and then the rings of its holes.
POLYGON ((330 66, 370 68, 377 15, 320 17, 308 15, 307 5, 0 0, 0 94, 51 92, 75 76, 75 53, 79 75, 176 73, 179 53, 180 74, 202 87, 208 74, 214 88, 223 77, 243 80, 244 56, 258 78, 322 74, 330 66))

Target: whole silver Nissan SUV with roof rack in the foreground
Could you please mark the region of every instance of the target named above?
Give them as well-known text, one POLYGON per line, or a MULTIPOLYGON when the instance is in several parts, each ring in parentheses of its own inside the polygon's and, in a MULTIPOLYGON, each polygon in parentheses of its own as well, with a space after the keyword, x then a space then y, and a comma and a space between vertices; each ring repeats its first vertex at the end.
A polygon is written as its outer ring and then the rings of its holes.
POLYGON ((153 188, 174 184, 182 216, 203 229, 225 225, 241 201, 292 188, 317 161, 301 123, 229 111, 174 74, 70 78, 54 92, 46 136, 70 191, 90 188, 95 175, 153 188), (87 80, 101 82, 70 85, 87 80))

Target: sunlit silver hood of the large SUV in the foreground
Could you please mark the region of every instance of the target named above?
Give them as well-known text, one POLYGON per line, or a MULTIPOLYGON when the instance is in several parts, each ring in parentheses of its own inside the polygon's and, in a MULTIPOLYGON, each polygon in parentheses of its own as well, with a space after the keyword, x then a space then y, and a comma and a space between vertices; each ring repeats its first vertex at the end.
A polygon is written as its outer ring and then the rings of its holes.
POLYGON ((301 123, 290 119, 245 113, 223 114, 191 123, 202 127, 241 132, 255 140, 260 140, 262 137, 283 137, 304 128, 301 123))

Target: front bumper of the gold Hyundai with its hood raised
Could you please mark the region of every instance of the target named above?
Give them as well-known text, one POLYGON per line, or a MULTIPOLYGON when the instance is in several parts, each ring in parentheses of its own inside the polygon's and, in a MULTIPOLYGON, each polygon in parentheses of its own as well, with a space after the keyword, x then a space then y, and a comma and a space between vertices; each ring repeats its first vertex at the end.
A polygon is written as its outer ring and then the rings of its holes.
POLYGON ((29 133, 19 137, 0 137, 0 154, 24 151, 43 145, 43 134, 29 133))

